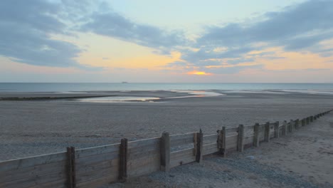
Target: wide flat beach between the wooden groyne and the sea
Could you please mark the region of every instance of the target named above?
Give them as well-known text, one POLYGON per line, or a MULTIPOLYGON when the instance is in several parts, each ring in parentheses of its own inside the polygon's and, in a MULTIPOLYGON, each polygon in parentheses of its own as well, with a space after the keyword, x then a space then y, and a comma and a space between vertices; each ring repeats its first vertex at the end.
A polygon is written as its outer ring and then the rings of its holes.
POLYGON ((124 137, 129 140, 160 137, 164 131, 174 135, 202 129, 203 134, 213 134, 223 126, 295 120, 331 110, 333 106, 333 95, 278 90, 209 92, 221 95, 168 90, 3 92, 0 93, 0 160, 63 152, 69 146, 79 149, 108 145, 124 137), (96 96, 160 99, 107 103, 78 99, 96 96))

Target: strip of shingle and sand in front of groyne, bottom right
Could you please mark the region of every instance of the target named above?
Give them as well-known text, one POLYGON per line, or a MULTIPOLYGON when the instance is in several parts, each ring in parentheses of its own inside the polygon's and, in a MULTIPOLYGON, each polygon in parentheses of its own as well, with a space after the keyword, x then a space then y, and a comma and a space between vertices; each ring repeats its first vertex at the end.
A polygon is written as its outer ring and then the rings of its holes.
POLYGON ((154 172, 120 187, 333 187, 333 114, 299 130, 226 157, 154 172))

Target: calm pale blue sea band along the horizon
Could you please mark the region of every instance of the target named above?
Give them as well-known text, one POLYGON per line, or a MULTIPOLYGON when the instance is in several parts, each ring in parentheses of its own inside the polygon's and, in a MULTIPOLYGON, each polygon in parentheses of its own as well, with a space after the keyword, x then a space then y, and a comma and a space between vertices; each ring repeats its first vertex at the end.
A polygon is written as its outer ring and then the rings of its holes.
POLYGON ((88 90, 322 90, 333 83, 0 83, 0 92, 88 90))

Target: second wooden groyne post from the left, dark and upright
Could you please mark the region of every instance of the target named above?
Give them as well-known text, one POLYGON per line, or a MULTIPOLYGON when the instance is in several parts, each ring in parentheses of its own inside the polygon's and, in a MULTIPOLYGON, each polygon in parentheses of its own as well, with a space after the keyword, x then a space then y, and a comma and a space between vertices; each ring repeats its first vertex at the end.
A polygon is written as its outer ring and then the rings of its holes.
POLYGON ((127 142, 126 138, 123 138, 120 142, 120 171, 119 179, 125 182, 127 179, 127 142))

